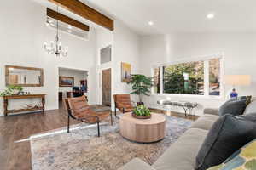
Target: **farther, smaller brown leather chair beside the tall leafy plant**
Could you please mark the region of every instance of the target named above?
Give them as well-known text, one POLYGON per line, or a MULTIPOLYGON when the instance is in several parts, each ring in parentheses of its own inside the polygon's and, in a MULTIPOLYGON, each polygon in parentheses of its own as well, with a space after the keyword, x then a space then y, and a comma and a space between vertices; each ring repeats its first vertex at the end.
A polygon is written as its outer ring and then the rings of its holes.
POLYGON ((125 113, 133 111, 134 106, 131 103, 130 94, 114 94, 114 116, 116 116, 116 109, 125 113))

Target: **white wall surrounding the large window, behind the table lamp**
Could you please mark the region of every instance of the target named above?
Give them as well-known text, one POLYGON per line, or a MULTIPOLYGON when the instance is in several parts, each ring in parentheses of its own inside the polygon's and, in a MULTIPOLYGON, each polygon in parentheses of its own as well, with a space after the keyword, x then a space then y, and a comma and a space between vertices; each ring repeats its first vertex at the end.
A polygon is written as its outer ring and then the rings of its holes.
MULTIPOLYGON (((151 36, 142 38, 141 69, 143 74, 151 76, 152 65, 186 59, 201 57, 211 54, 224 53, 224 74, 246 74, 251 75, 253 84, 251 87, 238 88, 239 94, 256 95, 256 33, 183 33, 166 36, 151 36)), ((225 86, 225 94, 231 87, 225 86)), ((196 114, 201 114, 204 107, 218 107, 224 99, 184 98, 197 101, 201 108, 196 114)), ((166 96, 154 95, 147 100, 148 105, 156 105, 157 99, 165 99, 166 96)))

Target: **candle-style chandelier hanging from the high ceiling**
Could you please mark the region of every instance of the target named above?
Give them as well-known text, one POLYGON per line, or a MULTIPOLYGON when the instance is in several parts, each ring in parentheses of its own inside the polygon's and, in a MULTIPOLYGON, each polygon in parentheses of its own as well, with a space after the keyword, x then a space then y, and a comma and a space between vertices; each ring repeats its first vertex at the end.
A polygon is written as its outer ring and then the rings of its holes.
MULTIPOLYGON (((59 7, 57 7, 57 12, 59 13, 59 7)), ((44 50, 48 53, 48 54, 56 54, 57 57, 59 57, 60 55, 62 55, 63 57, 67 56, 67 51, 68 48, 62 48, 61 47, 61 41, 60 41, 60 37, 59 37, 59 20, 56 20, 56 36, 55 36, 55 41, 51 41, 49 43, 44 42, 44 50)), ((47 26, 51 26, 50 22, 49 22, 49 18, 47 17, 46 20, 46 25, 47 26)))

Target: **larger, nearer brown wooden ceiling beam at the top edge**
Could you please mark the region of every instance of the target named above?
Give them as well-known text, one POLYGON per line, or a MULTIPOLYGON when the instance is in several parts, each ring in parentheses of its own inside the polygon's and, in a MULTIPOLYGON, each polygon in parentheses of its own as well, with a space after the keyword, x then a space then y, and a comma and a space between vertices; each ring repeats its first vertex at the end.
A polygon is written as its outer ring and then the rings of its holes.
POLYGON ((96 9, 90 8, 88 5, 79 2, 79 0, 49 0, 49 2, 55 3, 62 8, 66 8, 74 14, 78 14, 84 19, 90 20, 100 26, 107 28, 110 31, 113 31, 114 29, 113 20, 108 18, 106 15, 96 11, 96 9))

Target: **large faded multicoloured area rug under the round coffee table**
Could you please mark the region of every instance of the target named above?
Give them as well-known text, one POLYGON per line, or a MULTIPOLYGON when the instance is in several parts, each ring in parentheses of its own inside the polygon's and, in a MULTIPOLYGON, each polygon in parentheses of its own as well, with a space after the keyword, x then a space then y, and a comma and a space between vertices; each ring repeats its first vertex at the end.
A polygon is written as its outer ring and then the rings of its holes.
POLYGON ((109 123, 101 126, 100 138, 96 137, 96 127, 83 127, 82 124, 71 133, 31 138, 32 169, 116 170, 135 157, 152 165, 192 123, 174 116, 166 116, 166 120, 166 138, 153 144, 137 144, 124 139, 119 134, 117 120, 113 126, 109 123))

